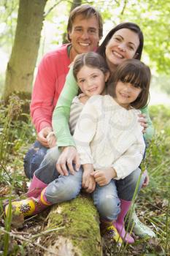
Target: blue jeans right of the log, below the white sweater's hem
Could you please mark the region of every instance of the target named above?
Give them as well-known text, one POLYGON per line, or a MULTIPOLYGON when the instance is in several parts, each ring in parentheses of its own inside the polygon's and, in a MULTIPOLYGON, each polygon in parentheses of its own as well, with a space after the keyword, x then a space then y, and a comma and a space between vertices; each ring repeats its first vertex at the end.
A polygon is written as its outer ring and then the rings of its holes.
MULTIPOLYGON (((96 186, 92 196, 100 217, 109 221, 117 219, 120 213, 120 199, 132 200, 140 173, 141 170, 137 168, 123 179, 112 179, 106 186, 96 186)), ((138 192, 143 182, 144 176, 140 180, 138 192)))

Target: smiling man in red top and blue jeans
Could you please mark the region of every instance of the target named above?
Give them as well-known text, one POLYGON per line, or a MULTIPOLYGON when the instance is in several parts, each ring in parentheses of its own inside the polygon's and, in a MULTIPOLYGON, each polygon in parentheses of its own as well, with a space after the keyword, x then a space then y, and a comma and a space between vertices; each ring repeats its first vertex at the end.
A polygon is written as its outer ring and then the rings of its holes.
POLYGON ((69 15, 69 44, 47 53, 39 64, 31 99, 31 118, 37 140, 24 159, 26 176, 31 178, 47 153, 47 135, 52 132, 52 114, 75 56, 96 50, 103 34, 101 15, 90 5, 81 5, 69 15))

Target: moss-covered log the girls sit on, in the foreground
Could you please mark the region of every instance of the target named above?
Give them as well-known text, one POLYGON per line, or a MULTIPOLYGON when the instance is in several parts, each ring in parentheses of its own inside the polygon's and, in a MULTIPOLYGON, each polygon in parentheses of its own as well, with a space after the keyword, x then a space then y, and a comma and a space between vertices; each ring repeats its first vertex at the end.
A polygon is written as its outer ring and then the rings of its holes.
POLYGON ((47 241, 45 256, 101 256, 98 212, 88 195, 51 208, 47 230, 58 227, 47 241))

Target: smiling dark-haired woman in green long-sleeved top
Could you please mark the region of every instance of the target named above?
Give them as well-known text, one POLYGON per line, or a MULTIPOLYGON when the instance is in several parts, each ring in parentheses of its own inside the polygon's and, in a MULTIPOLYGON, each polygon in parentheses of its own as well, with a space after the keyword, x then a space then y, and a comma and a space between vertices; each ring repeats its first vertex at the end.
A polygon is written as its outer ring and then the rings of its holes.
MULTIPOLYGON (((122 63, 125 59, 141 59, 143 49, 143 34, 139 26, 135 23, 120 23, 114 29, 109 31, 107 37, 98 48, 97 52, 104 56, 107 61, 109 72, 114 75, 115 69, 118 64, 122 63)), ((57 162, 57 170, 59 173, 66 172, 66 164, 69 169, 74 172, 72 162, 75 162, 76 169, 80 168, 80 161, 75 148, 74 140, 69 131, 69 113, 72 99, 77 95, 78 86, 77 81, 74 79, 72 67, 69 70, 69 74, 66 77, 66 83, 63 87, 63 91, 58 99, 57 105, 53 112, 53 131, 57 138, 58 146, 62 149, 62 154, 57 162)), ((141 109, 144 116, 147 118, 147 125, 144 121, 141 121, 144 126, 144 138, 150 140, 154 133, 152 127, 152 121, 148 113, 147 106, 141 109)), ((142 117, 142 116, 140 116, 142 117)), ((144 186, 147 186, 149 181, 146 176, 144 186)), ((88 187, 85 187, 88 191, 88 187)), ((134 213, 134 217, 136 214, 134 213)), ((139 219, 134 220, 139 236, 155 236, 152 230, 142 225, 139 219)), ((134 227, 135 227, 134 226, 134 227)))

